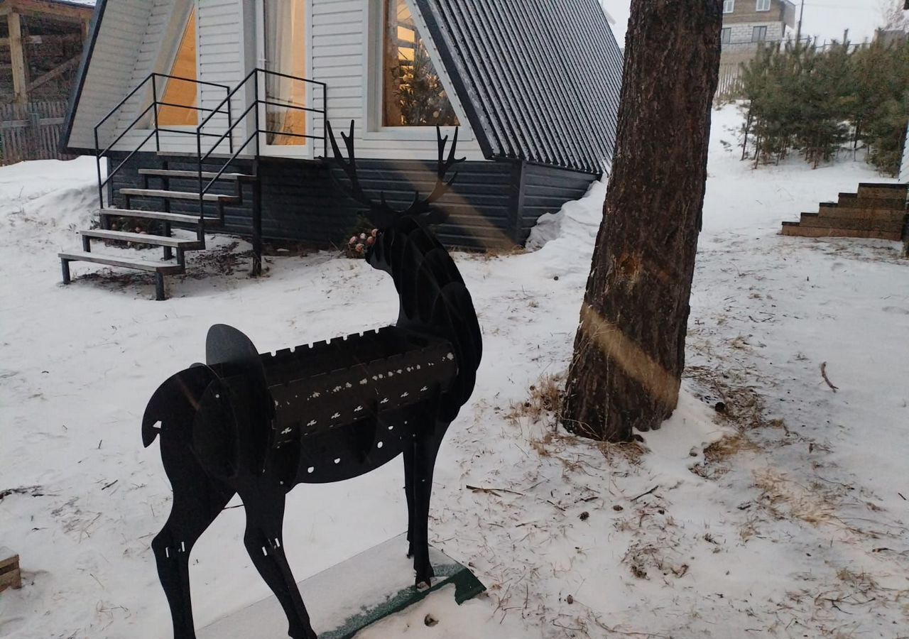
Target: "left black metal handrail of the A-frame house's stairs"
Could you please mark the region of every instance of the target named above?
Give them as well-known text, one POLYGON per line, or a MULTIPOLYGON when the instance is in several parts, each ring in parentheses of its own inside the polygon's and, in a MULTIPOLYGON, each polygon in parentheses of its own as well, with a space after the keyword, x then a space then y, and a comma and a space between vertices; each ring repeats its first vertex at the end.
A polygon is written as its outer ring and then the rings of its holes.
MULTIPOLYGON (((226 113, 228 125, 233 124, 233 122, 232 122, 233 115, 231 114, 231 105, 230 105, 229 100, 226 101, 227 102, 226 111, 222 110, 222 106, 225 104, 224 102, 222 102, 220 105, 218 105, 215 109, 208 109, 208 108, 201 107, 201 106, 175 105, 173 103, 162 102, 162 101, 158 100, 157 78, 159 78, 159 77, 167 78, 169 80, 177 80, 180 82, 191 82, 195 85, 214 86, 219 89, 224 89, 225 92, 227 92, 228 94, 230 93, 229 86, 218 85, 214 82, 206 82, 204 80, 195 80, 195 79, 189 78, 189 77, 182 77, 180 75, 161 74, 161 73, 157 73, 157 72, 153 72, 149 75, 146 75, 145 79, 142 82, 140 82, 138 85, 135 85, 133 90, 130 91, 128 94, 126 94, 125 97, 122 100, 120 100, 120 102, 118 102, 115 105, 115 107, 112 108, 107 113, 107 115, 105 115, 95 125, 95 132, 94 132, 95 133, 95 165, 96 165, 97 177, 98 177, 98 203, 101 206, 101 208, 104 208, 104 205, 105 205, 105 185, 108 185, 111 182, 111 180, 114 179, 114 176, 117 174, 117 172, 120 171, 120 169, 123 168, 123 166, 126 164, 126 162, 128 160, 130 160, 136 153, 138 153, 148 143, 148 141, 150 139, 152 139, 153 136, 155 137, 155 148, 157 151, 161 150, 160 133, 162 131, 164 131, 165 133, 174 133, 174 134, 180 134, 180 135, 196 135, 197 138, 200 135, 216 136, 216 134, 200 134, 197 131, 191 131, 191 130, 161 128, 158 125, 158 107, 159 106, 170 106, 170 107, 176 107, 176 108, 191 109, 191 110, 195 110, 196 112, 211 111, 212 113, 208 115, 208 117, 206 118, 206 121, 208 119, 211 119, 211 117, 214 116, 215 113, 226 113), (143 87, 145 87, 145 85, 147 85, 149 83, 149 81, 151 81, 151 83, 152 83, 152 102, 151 102, 151 104, 146 106, 145 109, 143 109, 143 111, 139 115, 136 115, 135 118, 133 119, 133 121, 131 123, 129 123, 129 125, 125 126, 124 130, 120 133, 120 135, 116 136, 114 142, 112 142, 110 145, 107 145, 105 147, 105 149, 102 150, 100 135, 99 135, 99 131, 101 130, 101 127, 104 126, 105 123, 108 120, 110 120, 111 117, 113 117, 116 113, 118 113, 120 111, 120 109, 123 108, 123 105, 125 105, 130 100, 130 98, 132 98, 139 91, 141 91, 143 89, 143 87), (119 143, 120 140, 122 140, 127 133, 129 133, 130 131, 133 130, 135 125, 137 125, 140 121, 143 120, 143 118, 145 118, 146 115, 148 115, 149 111, 152 111, 152 110, 154 110, 155 126, 152 129, 151 133, 149 133, 149 135, 147 135, 145 137, 145 139, 138 146, 136 146, 135 149, 132 152, 130 152, 129 155, 126 156, 125 160, 123 162, 121 162, 119 165, 117 165, 116 168, 107 175, 106 178, 102 178, 101 160, 103 158, 105 158, 108 153, 110 153, 111 149, 113 149, 114 146, 117 145, 117 143, 119 143)), ((233 127, 231 127, 231 130, 233 130, 233 127)), ((231 151, 233 151, 233 147, 234 147, 234 140, 233 140, 233 137, 231 137, 231 140, 230 140, 231 151)))

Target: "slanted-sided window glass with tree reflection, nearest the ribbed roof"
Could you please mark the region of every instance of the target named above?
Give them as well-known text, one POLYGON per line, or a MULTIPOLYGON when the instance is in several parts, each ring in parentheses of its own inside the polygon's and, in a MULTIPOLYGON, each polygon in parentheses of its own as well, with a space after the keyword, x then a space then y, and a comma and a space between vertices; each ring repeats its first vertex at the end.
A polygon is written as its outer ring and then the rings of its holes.
POLYGON ((405 0, 384 0, 382 125, 456 126, 457 115, 405 0))

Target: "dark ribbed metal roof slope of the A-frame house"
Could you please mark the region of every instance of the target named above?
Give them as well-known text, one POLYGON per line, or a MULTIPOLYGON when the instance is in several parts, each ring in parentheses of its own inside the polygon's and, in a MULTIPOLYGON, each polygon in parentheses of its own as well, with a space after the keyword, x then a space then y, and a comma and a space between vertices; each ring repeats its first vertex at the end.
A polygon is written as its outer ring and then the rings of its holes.
POLYGON ((416 0, 484 154, 599 173, 622 52, 597 0, 416 0))

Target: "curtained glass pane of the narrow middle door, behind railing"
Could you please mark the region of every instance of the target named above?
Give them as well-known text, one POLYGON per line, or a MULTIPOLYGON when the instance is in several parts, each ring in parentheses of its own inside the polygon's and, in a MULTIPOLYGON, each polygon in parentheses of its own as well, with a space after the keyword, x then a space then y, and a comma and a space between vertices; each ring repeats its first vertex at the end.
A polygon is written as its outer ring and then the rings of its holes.
MULTIPOLYGON (((285 75, 306 75, 305 0, 265 0, 265 68, 285 75)), ((267 75, 265 95, 270 102, 306 106, 306 83, 279 75, 267 75)), ((265 121, 272 133, 269 145, 305 145, 306 112, 268 105, 265 121), (282 135, 284 134, 284 135, 282 135), (287 135, 295 134, 295 135, 287 135)))

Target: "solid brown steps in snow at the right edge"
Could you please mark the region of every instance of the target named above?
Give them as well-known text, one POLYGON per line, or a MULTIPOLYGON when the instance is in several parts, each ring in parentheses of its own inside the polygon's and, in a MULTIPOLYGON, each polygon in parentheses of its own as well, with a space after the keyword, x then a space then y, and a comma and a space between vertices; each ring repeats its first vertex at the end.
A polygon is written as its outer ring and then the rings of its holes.
POLYGON ((803 237, 909 238, 906 195, 909 185, 863 183, 858 193, 841 193, 836 203, 822 203, 799 222, 784 222, 783 235, 803 237))

